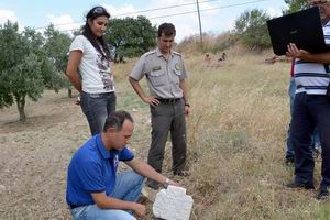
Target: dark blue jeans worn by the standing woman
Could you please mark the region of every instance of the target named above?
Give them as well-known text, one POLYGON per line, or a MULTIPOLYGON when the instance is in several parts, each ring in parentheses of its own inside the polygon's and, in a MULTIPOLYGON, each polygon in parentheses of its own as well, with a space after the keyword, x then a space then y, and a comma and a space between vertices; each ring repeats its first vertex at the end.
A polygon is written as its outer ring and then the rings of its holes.
POLYGON ((85 113, 91 135, 103 130, 108 116, 116 111, 116 94, 87 94, 81 92, 81 110, 85 113))

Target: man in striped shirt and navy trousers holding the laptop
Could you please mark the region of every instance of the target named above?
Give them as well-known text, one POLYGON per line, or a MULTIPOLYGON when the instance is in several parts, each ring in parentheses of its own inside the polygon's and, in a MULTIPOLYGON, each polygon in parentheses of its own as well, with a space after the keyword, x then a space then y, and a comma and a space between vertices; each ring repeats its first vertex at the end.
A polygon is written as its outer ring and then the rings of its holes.
MULTIPOLYGON (((310 7, 319 7, 326 44, 330 44, 330 2, 308 0, 310 7)), ((308 24, 306 24, 308 25, 308 24)), ((314 189, 315 161, 311 153, 311 136, 319 129, 322 146, 322 180, 317 199, 329 198, 330 186, 330 52, 311 54, 296 44, 287 45, 288 57, 296 59, 294 77, 297 86, 294 114, 292 118, 292 140, 295 148, 295 179, 292 188, 314 189)))

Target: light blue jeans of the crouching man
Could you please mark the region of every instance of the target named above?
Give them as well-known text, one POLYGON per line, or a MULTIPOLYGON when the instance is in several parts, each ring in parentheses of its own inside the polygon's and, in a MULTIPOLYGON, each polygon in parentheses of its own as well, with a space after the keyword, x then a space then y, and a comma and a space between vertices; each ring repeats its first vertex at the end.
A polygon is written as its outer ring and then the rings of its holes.
MULTIPOLYGON (((144 185, 144 177, 133 170, 117 175, 116 188, 111 197, 125 201, 138 201, 144 185)), ((74 220, 136 220, 130 211, 119 209, 100 209, 97 205, 72 209, 74 220)))

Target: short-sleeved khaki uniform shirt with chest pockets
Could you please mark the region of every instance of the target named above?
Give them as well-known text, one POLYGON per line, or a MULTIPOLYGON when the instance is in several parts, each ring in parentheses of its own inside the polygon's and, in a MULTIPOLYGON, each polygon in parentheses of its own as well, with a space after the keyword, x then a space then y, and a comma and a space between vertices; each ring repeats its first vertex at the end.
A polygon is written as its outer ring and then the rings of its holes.
POLYGON ((183 98, 179 82, 187 78, 187 73, 179 53, 172 52, 168 61, 158 48, 143 54, 130 77, 139 81, 144 75, 152 96, 163 99, 183 98))

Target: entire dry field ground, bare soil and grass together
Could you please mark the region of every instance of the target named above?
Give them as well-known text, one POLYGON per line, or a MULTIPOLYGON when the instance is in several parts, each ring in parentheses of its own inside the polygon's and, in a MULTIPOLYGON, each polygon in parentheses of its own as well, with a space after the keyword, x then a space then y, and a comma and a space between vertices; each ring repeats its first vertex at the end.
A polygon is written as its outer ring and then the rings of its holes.
MULTIPOLYGON (((232 50, 228 61, 209 66, 204 55, 186 57, 190 176, 170 175, 170 143, 163 170, 194 197, 191 220, 330 219, 329 201, 318 201, 316 191, 285 187, 294 177, 294 168, 284 163, 290 64, 268 65, 266 57, 232 50)), ((135 62, 114 66, 118 109, 132 112, 136 123, 131 147, 145 160, 150 111, 127 80, 135 62)), ((28 102, 23 124, 16 122, 14 106, 0 110, 0 219, 69 219, 66 168, 89 138, 74 101, 65 90, 46 91, 38 102, 28 102)), ((315 176, 318 186, 320 160, 315 176)), ((152 219, 151 205, 143 220, 152 219)))

